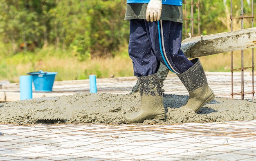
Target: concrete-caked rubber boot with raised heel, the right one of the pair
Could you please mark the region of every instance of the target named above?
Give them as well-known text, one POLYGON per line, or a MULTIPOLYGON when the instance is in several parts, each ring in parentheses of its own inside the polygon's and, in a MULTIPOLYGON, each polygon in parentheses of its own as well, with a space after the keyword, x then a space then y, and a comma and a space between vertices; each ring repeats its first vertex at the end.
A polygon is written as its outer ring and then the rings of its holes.
POLYGON ((194 65, 186 72, 177 74, 189 92, 189 99, 181 110, 197 113, 205 103, 211 102, 215 95, 208 86, 204 69, 198 58, 191 60, 194 65))

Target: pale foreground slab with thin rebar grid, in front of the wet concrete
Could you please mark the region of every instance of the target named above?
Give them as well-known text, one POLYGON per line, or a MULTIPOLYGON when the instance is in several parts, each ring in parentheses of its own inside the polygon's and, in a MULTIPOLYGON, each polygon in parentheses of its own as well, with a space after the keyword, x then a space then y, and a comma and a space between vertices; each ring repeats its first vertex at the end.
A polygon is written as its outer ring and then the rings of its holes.
POLYGON ((256 159, 256 121, 0 125, 0 160, 256 159))

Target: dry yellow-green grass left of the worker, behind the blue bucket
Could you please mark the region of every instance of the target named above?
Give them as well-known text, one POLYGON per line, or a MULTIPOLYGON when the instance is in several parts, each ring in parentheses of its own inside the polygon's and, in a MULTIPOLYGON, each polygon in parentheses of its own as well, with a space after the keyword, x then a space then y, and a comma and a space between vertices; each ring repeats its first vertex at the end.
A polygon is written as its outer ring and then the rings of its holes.
POLYGON ((0 80, 18 83, 19 76, 35 71, 58 72, 56 81, 88 79, 90 74, 97 78, 132 76, 132 61, 119 54, 114 58, 99 58, 79 61, 71 51, 56 50, 53 47, 40 49, 35 53, 18 53, 0 60, 0 80))

